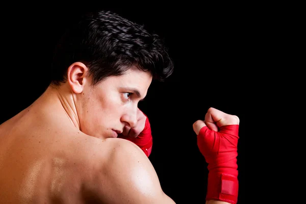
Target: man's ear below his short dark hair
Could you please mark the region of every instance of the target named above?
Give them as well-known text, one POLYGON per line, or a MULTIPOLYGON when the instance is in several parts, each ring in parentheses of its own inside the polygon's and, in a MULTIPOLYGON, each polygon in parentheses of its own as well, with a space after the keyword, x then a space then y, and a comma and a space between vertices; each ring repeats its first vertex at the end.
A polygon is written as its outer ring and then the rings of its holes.
POLYGON ((82 62, 75 62, 68 67, 67 80, 75 93, 82 93, 84 86, 88 83, 88 68, 82 62))

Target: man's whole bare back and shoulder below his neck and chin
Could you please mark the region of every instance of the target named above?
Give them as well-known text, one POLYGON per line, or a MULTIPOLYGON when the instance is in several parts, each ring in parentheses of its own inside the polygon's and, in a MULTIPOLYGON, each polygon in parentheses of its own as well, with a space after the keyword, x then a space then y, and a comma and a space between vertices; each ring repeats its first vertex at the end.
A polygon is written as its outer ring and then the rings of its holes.
POLYGON ((174 203, 143 151, 29 107, 0 125, 0 203, 174 203))

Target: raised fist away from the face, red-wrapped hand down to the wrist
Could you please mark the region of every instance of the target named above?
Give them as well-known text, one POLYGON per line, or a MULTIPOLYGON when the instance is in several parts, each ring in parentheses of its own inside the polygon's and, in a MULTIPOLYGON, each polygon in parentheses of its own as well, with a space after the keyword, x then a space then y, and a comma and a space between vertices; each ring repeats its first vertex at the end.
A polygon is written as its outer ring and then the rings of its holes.
MULTIPOLYGON (((205 120, 197 120, 193 130, 197 134, 197 145, 205 157, 209 169, 223 164, 237 156, 239 118, 210 108, 205 120), (215 164, 212 166, 212 164, 215 164)), ((233 160, 234 161, 234 160, 233 160)), ((234 162, 235 163, 235 162, 234 162)), ((231 164, 230 166, 233 166, 231 164)))

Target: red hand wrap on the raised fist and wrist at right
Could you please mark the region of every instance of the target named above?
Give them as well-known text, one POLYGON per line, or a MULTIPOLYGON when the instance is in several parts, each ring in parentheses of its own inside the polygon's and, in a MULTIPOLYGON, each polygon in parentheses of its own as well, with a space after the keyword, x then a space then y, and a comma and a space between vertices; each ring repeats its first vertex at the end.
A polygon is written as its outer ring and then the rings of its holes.
POLYGON ((238 130, 238 124, 222 126, 218 132, 204 126, 197 135, 197 145, 209 170, 206 200, 237 203, 238 130))

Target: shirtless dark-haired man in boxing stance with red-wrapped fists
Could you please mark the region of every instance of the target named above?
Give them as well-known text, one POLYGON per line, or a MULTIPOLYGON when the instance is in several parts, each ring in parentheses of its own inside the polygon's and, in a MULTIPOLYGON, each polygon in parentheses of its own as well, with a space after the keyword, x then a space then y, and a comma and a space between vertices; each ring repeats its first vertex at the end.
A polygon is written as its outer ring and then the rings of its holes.
MULTIPOLYGON (((46 91, 0 126, 0 203, 174 203, 147 158, 150 124, 137 106, 173 70, 158 36, 91 13, 63 35, 53 69, 46 91)), ((208 203, 237 202, 238 124, 211 108, 193 125, 208 203)))

